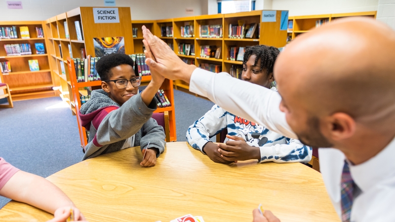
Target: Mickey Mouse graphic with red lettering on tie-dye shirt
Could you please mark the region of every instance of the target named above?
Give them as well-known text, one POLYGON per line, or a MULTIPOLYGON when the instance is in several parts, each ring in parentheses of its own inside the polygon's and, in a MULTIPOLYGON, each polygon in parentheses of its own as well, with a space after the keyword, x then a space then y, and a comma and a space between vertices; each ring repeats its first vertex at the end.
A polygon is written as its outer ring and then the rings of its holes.
MULTIPOLYGON (((254 122, 248 121, 246 119, 240 118, 238 116, 235 116, 234 121, 235 121, 235 124, 236 123, 239 124, 240 128, 237 130, 240 131, 244 135, 244 138, 245 138, 244 140, 249 146, 262 147, 263 145, 265 145, 268 142, 267 137, 262 137, 259 139, 259 137, 261 136, 261 133, 263 132, 265 127, 260 126, 254 122), (253 131, 254 131, 254 133, 252 133, 253 131), (249 133, 252 133, 251 139, 248 138, 249 133)), ((243 136, 241 134, 239 134, 237 136, 243 138, 243 136)))

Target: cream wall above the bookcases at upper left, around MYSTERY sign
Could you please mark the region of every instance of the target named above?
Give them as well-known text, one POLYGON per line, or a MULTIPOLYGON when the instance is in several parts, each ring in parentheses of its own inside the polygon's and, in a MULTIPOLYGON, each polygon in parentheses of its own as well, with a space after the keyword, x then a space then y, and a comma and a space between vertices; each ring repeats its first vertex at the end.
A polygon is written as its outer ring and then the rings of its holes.
MULTIPOLYGON (((8 9, 0 0, 0 21, 45 20, 79 6, 104 6, 104 0, 21 0, 23 9, 8 9)), ((132 20, 164 19, 201 15, 201 0, 116 0, 118 7, 130 7, 132 20), (194 8, 194 14, 186 14, 194 8)))

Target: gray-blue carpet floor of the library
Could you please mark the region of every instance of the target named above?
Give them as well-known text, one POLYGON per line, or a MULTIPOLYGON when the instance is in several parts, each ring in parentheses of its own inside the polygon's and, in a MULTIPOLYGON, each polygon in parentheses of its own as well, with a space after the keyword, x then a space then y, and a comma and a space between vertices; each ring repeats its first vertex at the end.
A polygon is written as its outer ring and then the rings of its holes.
MULTIPOLYGON (((188 127, 214 105, 174 90, 177 141, 186 141, 188 127)), ((0 156, 15 167, 48 177, 82 158, 76 116, 59 97, 16 101, 0 109, 0 156), (51 109, 46 109, 51 108, 51 109)), ((9 199, 0 197, 0 208, 9 199)))

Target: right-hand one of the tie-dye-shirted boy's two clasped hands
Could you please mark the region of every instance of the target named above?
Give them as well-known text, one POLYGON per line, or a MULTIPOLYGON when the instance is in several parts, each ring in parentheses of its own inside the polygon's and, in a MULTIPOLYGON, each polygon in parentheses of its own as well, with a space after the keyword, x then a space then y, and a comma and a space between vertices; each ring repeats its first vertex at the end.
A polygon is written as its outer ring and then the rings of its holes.
POLYGON ((219 144, 218 152, 221 153, 221 157, 227 161, 238 161, 238 160, 249 160, 249 159, 261 159, 261 151, 259 147, 249 146, 243 138, 237 136, 226 135, 231 140, 225 144, 219 144))

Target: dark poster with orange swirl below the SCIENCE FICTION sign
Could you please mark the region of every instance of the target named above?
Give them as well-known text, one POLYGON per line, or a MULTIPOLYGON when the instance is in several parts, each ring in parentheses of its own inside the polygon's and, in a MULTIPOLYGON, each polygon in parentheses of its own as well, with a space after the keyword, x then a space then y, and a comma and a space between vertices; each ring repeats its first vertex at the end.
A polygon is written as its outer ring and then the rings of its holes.
POLYGON ((125 40, 123 37, 93 38, 95 57, 103 57, 113 53, 125 54, 125 40))

